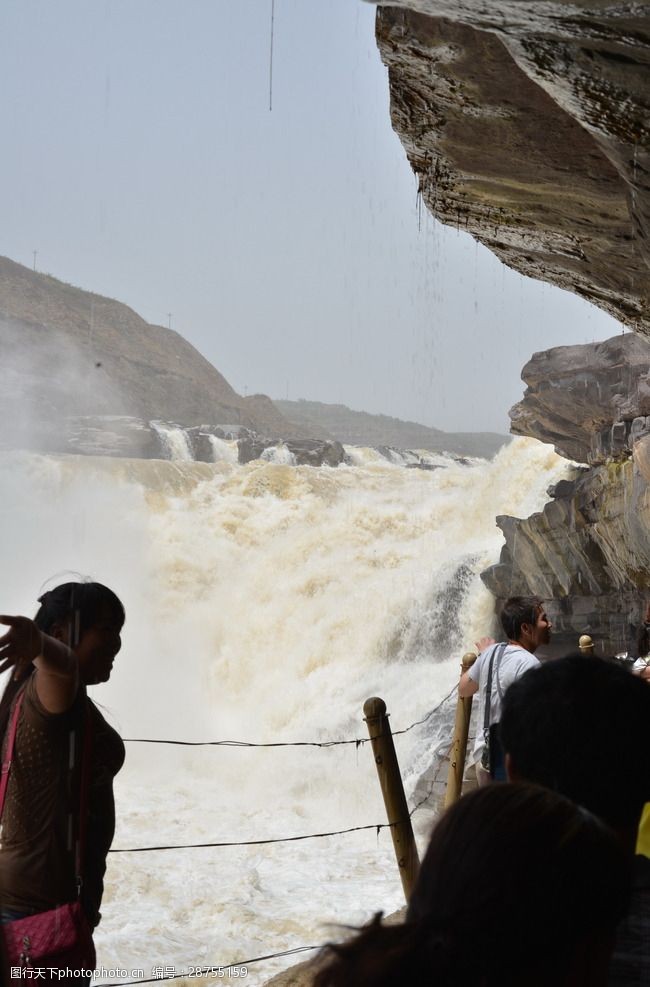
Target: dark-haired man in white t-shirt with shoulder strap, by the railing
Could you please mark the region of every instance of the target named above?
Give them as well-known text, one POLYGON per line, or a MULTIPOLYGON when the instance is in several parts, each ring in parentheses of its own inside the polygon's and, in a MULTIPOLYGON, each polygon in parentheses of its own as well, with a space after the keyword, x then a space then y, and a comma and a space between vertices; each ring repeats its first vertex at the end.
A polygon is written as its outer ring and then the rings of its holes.
POLYGON ((498 723, 501 719, 503 696, 515 679, 539 665, 535 652, 539 647, 548 644, 551 636, 551 622, 546 616, 544 604, 536 596, 511 596, 506 600, 500 614, 501 626, 506 635, 506 642, 497 643, 491 638, 481 638, 477 647, 481 653, 469 669, 461 675, 458 694, 463 699, 479 693, 479 710, 474 744, 473 759, 476 764, 476 777, 479 785, 486 785, 493 778, 505 780, 505 771, 501 774, 502 765, 491 766, 491 773, 481 765, 485 749, 484 724, 487 727, 498 723), (485 701, 490 678, 489 715, 485 716, 485 701))

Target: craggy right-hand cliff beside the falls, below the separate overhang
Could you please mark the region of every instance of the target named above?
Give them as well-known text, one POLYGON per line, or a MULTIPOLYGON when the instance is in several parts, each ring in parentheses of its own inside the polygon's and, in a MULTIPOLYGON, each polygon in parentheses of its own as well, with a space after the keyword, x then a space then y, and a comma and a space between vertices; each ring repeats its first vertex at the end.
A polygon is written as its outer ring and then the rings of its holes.
POLYGON ((498 601, 543 597, 560 651, 591 634, 634 652, 650 599, 650 344, 634 335, 536 353, 513 431, 555 443, 576 467, 544 510, 497 518, 505 546, 483 579, 498 601))

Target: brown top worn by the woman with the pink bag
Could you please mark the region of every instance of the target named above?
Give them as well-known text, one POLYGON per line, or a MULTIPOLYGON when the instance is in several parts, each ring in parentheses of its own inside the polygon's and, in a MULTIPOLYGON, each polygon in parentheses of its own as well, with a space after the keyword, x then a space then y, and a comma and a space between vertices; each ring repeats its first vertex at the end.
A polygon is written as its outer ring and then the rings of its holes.
MULTIPOLYGON (((113 779, 124 763, 124 744, 85 689, 65 713, 49 713, 33 675, 25 687, 0 828, 0 907, 39 912, 77 896, 74 847, 86 706, 92 753, 81 899, 95 926, 115 831, 113 779)), ((3 756, 6 743, 5 736, 3 756)))

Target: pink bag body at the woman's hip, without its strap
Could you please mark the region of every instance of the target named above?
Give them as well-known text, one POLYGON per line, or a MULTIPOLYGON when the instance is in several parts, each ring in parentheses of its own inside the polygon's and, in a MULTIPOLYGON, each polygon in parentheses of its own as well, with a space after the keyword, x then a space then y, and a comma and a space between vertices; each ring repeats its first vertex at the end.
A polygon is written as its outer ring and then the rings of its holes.
MULTIPOLYGON (((95 946, 81 904, 74 901, 47 912, 6 922, 2 928, 9 966, 68 968, 70 980, 92 976, 95 946), (82 973, 81 971, 84 971, 82 973)), ((58 977, 56 978, 59 981, 58 977)))

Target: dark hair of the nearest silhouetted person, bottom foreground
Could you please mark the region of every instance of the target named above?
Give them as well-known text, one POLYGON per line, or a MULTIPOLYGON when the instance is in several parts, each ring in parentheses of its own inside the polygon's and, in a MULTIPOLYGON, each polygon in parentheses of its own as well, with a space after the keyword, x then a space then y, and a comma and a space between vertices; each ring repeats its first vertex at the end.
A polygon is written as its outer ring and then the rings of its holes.
POLYGON ((314 987, 519 987, 561 984, 577 947, 611 936, 629 863, 595 816, 555 792, 493 784, 436 828, 406 921, 376 915, 314 987))

